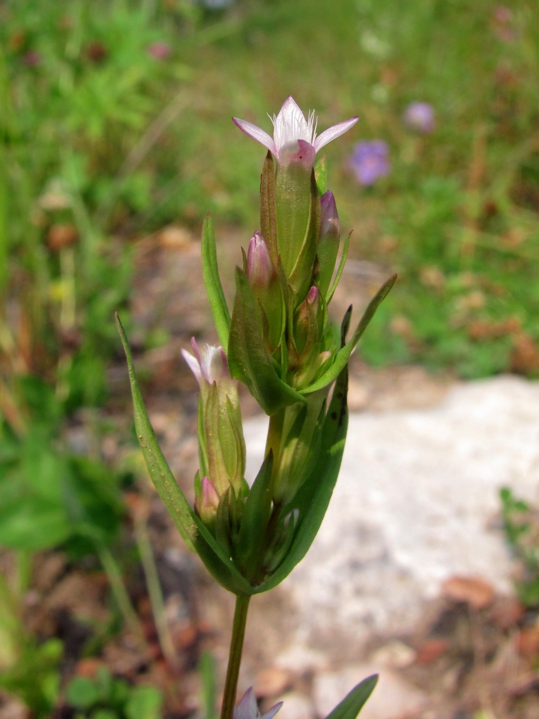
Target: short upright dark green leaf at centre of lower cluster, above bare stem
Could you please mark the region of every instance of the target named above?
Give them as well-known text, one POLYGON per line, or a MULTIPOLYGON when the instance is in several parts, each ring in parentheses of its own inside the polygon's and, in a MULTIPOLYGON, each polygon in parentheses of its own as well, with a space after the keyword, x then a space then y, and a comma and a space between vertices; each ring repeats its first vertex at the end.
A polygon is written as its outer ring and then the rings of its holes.
POLYGON ((235 547, 239 566, 249 579, 259 567, 266 538, 272 506, 272 470, 273 452, 270 449, 247 495, 235 547))

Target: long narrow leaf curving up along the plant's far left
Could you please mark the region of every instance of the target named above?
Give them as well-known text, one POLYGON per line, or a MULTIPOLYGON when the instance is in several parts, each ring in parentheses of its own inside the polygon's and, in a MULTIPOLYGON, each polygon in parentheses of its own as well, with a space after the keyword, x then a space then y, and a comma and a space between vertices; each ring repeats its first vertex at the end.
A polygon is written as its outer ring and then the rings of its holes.
POLYGON ((229 592, 234 594, 250 594, 252 587, 249 582, 241 576, 238 569, 234 567, 229 557, 218 545, 201 519, 196 516, 185 498, 182 490, 178 487, 174 475, 170 471, 161 448, 155 437, 152 424, 149 421, 144 400, 137 382, 137 375, 134 371, 133 357, 129 342, 127 340, 119 316, 116 314, 116 326, 124 345, 124 351, 129 367, 129 382, 133 396, 134 422, 137 431, 137 439, 148 468, 149 476, 160 495, 162 503, 168 510, 170 518, 178 528, 185 544, 189 549, 196 551, 198 556, 206 565, 208 572, 229 592))

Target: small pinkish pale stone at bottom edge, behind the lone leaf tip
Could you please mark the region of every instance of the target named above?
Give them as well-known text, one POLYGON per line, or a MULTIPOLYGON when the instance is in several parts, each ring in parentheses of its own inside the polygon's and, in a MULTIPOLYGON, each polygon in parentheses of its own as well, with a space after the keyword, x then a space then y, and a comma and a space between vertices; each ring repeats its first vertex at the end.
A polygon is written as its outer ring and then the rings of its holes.
POLYGON ((314 678, 313 695, 318 716, 326 717, 356 684, 372 674, 379 674, 378 683, 361 709, 361 719, 416 719, 427 705, 423 692, 391 669, 381 671, 376 664, 354 664, 314 678))

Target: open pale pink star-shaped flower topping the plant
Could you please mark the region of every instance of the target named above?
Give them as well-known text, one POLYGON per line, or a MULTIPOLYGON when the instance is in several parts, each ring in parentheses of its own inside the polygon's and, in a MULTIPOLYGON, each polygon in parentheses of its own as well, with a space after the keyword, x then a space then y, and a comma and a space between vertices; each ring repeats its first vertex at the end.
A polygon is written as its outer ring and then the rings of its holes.
POLYGON ((314 110, 310 111, 308 117, 305 118, 298 104, 289 95, 282 104, 279 114, 270 119, 273 123, 273 137, 247 120, 233 117, 232 121, 249 137, 267 147, 277 162, 297 159, 305 165, 313 165, 318 150, 353 127, 359 118, 351 117, 351 119, 339 122, 317 135, 317 120, 314 110))

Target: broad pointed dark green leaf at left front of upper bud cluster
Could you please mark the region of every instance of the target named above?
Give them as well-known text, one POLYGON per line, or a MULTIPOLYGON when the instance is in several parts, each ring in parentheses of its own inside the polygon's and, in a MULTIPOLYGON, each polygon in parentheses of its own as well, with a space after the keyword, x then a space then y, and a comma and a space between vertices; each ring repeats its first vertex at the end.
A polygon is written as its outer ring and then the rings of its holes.
POLYGON ((227 359, 232 377, 247 385, 266 414, 275 414, 295 402, 305 402, 303 396, 285 384, 275 371, 275 362, 264 347, 259 312, 249 280, 239 267, 236 267, 236 298, 227 359))

